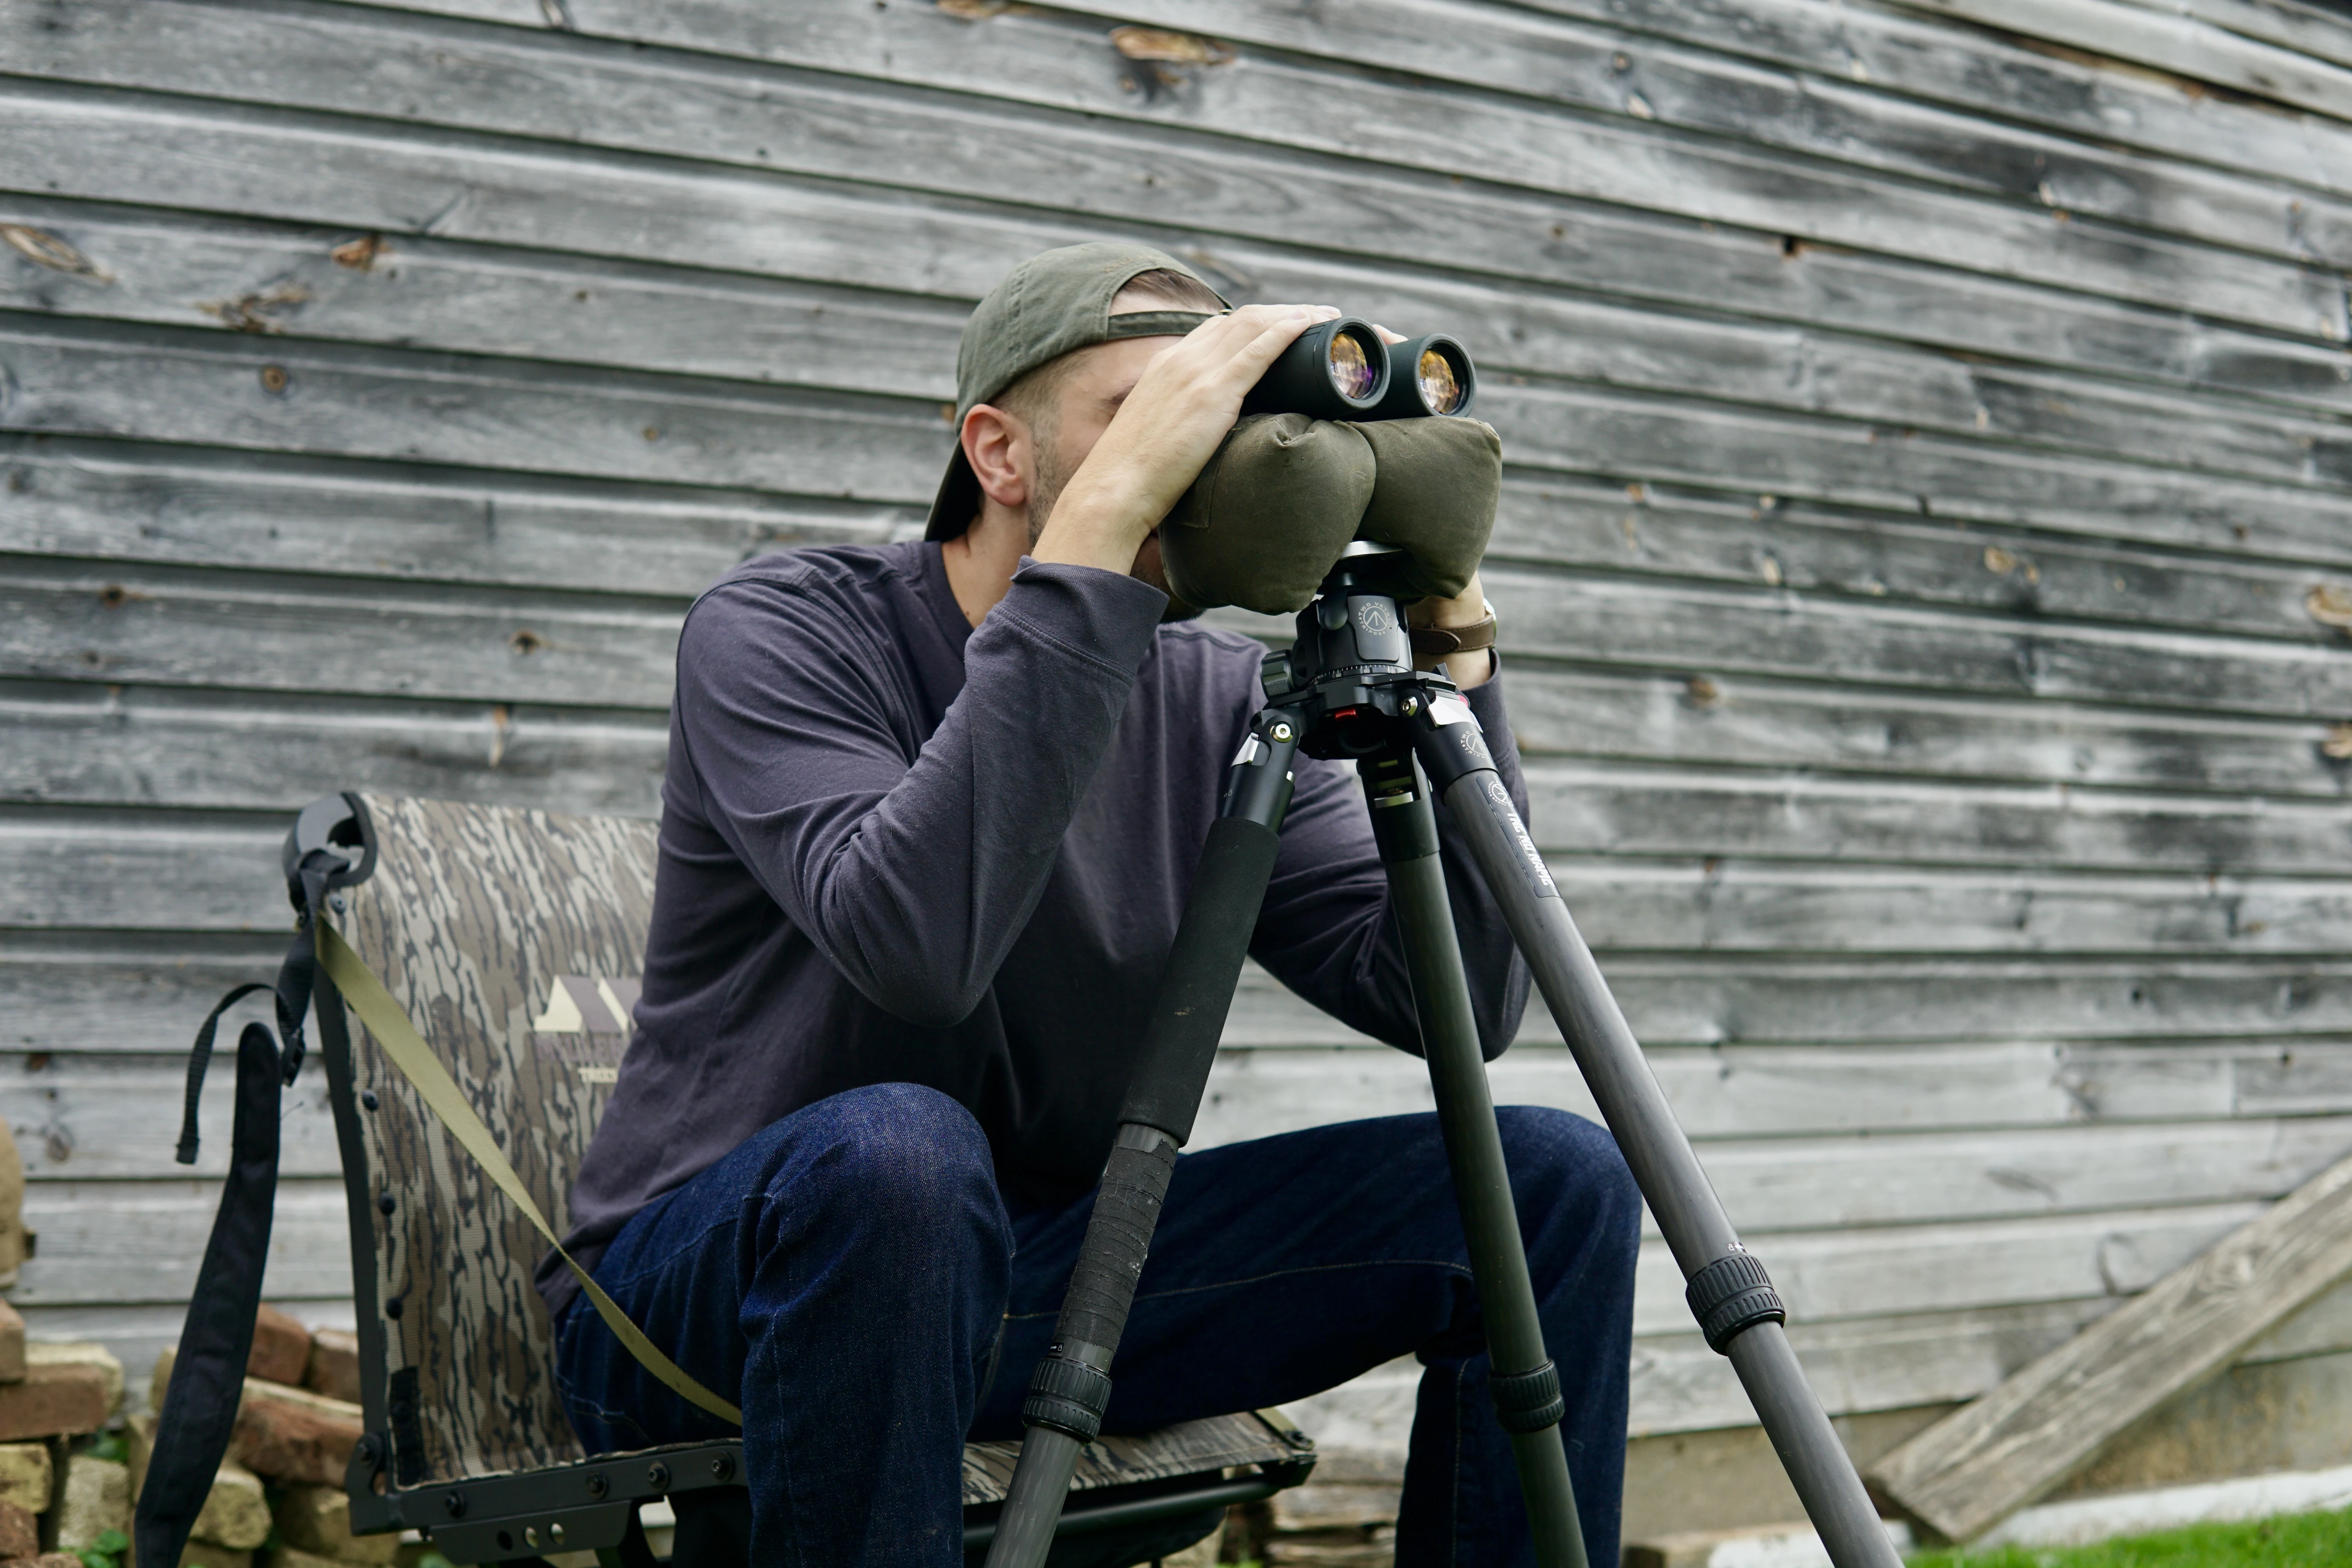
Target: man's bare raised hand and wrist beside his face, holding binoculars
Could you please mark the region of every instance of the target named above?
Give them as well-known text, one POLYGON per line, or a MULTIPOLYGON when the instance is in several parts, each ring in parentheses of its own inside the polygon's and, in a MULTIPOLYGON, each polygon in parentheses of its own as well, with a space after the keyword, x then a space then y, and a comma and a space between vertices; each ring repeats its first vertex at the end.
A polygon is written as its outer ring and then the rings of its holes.
POLYGON ((1242 306, 1152 355, 1070 475, 1030 557, 1124 574, 1232 430, 1258 376, 1301 331, 1336 315, 1331 306, 1242 306))

